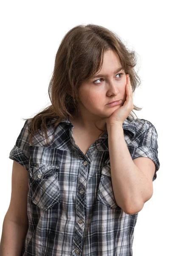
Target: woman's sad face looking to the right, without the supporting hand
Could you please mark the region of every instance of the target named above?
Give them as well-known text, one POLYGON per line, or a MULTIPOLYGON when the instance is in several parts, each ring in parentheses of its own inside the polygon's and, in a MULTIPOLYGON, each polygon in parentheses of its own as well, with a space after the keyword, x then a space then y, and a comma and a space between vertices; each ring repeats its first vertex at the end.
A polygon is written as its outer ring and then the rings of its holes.
POLYGON ((79 111, 85 111, 87 116, 93 118, 107 118, 126 100, 127 78, 118 55, 113 50, 104 53, 103 66, 92 79, 85 81, 79 87, 79 111), (107 105, 115 100, 120 104, 110 107, 107 105))

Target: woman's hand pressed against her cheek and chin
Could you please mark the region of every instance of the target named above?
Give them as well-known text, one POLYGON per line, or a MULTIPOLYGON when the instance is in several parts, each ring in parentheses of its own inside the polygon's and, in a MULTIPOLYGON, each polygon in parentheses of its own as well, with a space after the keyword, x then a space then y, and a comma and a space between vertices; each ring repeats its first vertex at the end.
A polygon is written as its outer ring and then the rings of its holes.
POLYGON ((130 77, 127 76, 127 84, 126 84, 126 101, 123 106, 118 108, 113 112, 113 114, 106 119, 106 123, 108 126, 110 125, 122 125, 124 120, 129 116, 130 112, 133 110, 133 96, 132 96, 132 86, 130 83, 130 77))

